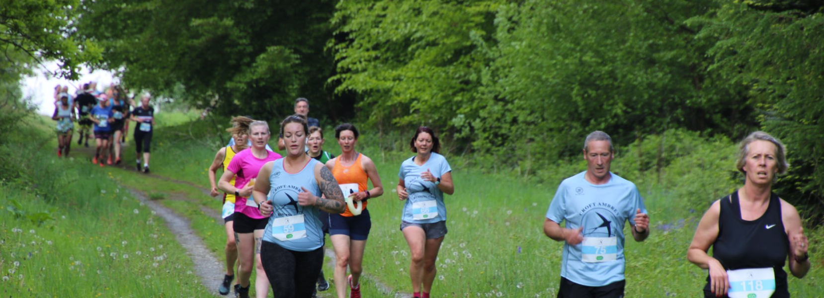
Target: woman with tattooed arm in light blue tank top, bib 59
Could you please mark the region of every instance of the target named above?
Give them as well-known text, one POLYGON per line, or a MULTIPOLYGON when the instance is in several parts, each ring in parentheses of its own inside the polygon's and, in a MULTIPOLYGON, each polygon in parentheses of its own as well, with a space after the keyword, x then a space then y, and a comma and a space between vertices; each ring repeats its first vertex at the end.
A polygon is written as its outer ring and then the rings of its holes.
POLYGON ((280 135, 287 156, 267 162, 253 192, 260 213, 272 215, 266 224, 261 254, 266 276, 277 297, 309 298, 323 264, 323 232, 318 211, 344 212, 344 196, 335 177, 304 151, 306 120, 283 120, 280 135), (321 198, 321 194, 325 198, 321 198))

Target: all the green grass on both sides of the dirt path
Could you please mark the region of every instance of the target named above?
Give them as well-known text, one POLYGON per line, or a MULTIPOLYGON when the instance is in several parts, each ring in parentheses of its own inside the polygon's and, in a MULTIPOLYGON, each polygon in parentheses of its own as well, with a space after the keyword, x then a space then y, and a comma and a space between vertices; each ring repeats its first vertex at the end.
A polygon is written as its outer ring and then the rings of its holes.
MULTIPOLYGON (((168 117, 169 119, 176 119, 178 116, 170 114, 168 117)), ((180 118, 183 117, 180 116, 180 118)), ((212 123, 202 121, 191 123, 175 121, 170 120, 168 123, 179 124, 169 126, 161 123, 155 132, 155 138, 152 142, 152 172, 157 175, 198 184, 204 189, 208 188, 206 168, 212 161, 214 152, 218 150, 222 143, 217 137, 218 128, 213 128, 212 123)), ((411 153, 408 151, 380 151, 376 146, 373 146, 377 140, 370 139, 369 132, 364 131, 362 133, 361 143, 359 144, 360 151, 376 161, 386 189, 386 193, 381 198, 373 199, 369 205, 372 214, 372 232, 364 258, 364 272, 368 274, 368 277, 364 281, 363 294, 367 297, 387 296, 377 291, 372 283, 375 281, 380 281, 395 291, 410 292, 411 286, 408 276, 409 249, 403 235, 398 230, 403 202, 397 199, 392 189, 398 181, 397 171, 400 162, 411 156, 411 153)), ((224 133, 223 142, 225 141, 227 141, 227 136, 224 133)), ((271 143, 274 144, 274 141, 271 143)), ((124 149, 124 161, 129 161, 127 164, 133 161, 134 153, 131 152, 131 148, 133 147, 124 149)), ((339 152, 339 148, 332 137, 327 137, 325 149, 333 153, 339 152)), ((49 154, 53 153, 51 150, 48 152, 49 154)), ((458 158, 452 159, 451 156, 447 156, 447 159, 452 162, 456 192, 455 195, 446 198, 449 233, 439 254, 438 280, 435 282, 433 294, 438 297, 555 296, 559 281, 562 243, 548 239, 543 235, 541 227, 546 208, 550 204, 559 181, 539 184, 530 179, 522 179, 513 175, 500 173, 493 175, 474 168, 462 167, 463 162, 460 162, 458 158)), ((50 265, 50 263, 39 263, 39 265, 26 263, 26 269, 23 269, 24 266, 21 265, 20 268, 15 269, 15 272, 21 272, 21 270, 34 271, 22 273, 26 277, 22 282, 18 281, 16 277, 19 273, 7 274, 10 277, 10 282, 15 282, 15 285, 30 285, 32 282, 27 277, 32 276, 31 274, 43 274, 43 277, 49 277, 49 280, 53 277, 56 278, 55 280, 60 278, 73 281, 82 279, 77 277, 76 274, 72 274, 77 273, 73 271, 77 269, 77 265, 75 265, 75 268, 69 269, 72 266, 69 264, 73 261, 70 258, 73 257, 77 260, 82 256, 83 259, 80 259, 80 262, 83 268, 96 266, 95 270, 98 268, 101 271, 110 270, 105 271, 110 272, 107 276, 112 278, 110 283, 106 285, 112 285, 119 282, 119 279, 128 278, 131 283, 125 283, 126 286, 141 285, 143 287, 139 289, 130 288, 133 291, 119 291, 112 290, 112 286, 109 286, 108 289, 101 288, 98 284, 102 283, 98 281, 94 282, 94 285, 83 282, 82 285, 85 286, 77 286, 78 290, 76 290, 82 292, 70 296, 86 296, 84 294, 87 293, 89 288, 106 289, 109 292, 105 292, 103 294, 105 296, 115 296, 113 291, 128 293, 116 296, 138 296, 134 294, 136 292, 144 293, 144 295, 139 296, 157 296, 152 293, 167 292, 165 291, 166 288, 170 289, 169 292, 192 293, 184 296, 200 296, 197 293, 202 293, 203 290, 200 289, 197 282, 193 282, 193 277, 185 274, 189 270, 187 268, 190 268, 190 264, 187 263, 189 260, 183 255, 182 248, 175 246, 174 240, 167 235, 162 235, 157 231, 147 232, 147 230, 152 230, 152 226, 147 227, 141 225, 141 223, 152 217, 147 214, 145 208, 139 206, 137 201, 128 196, 126 199, 108 199, 112 192, 117 193, 116 184, 110 181, 117 181, 124 186, 157 193, 155 196, 160 198, 159 201, 162 204, 190 219, 196 233, 205 240, 208 247, 222 260, 222 248, 225 241, 222 225, 216 223, 200 207, 205 206, 218 211, 219 202, 213 198, 208 198, 199 189, 188 184, 176 184, 170 180, 153 179, 134 171, 119 170, 114 167, 100 170, 81 163, 67 164, 66 166, 77 168, 78 171, 82 170, 83 175, 101 175, 105 177, 105 179, 95 179, 98 183, 98 189, 92 188, 83 192, 77 190, 78 193, 92 193, 91 197, 93 198, 97 198, 97 193, 101 190, 105 190, 106 193, 101 194, 100 200, 91 198, 85 200, 75 199, 70 205, 60 207, 59 210, 65 209, 64 212, 67 212, 67 218, 82 220, 77 222, 65 221, 67 223, 54 220, 54 230, 36 228, 34 224, 27 224, 26 221, 14 220, 11 217, 0 217, 0 225, 3 225, 0 227, 4 230, 3 235, 5 235, 6 241, 5 246, 0 246, 2 248, 0 249, 0 255, 3 259, 0 261, 0 267, 2 267, 3 272, 7 272, 8 269, 12 268, 9 265, 9 263, 13 263, 13 261, 9 261, 12 259, 10 258, 12 251, 15 252, 18 259, 21 258, 21 254, 26 254, 27 250, 25 247, 21 247, 21 244, 29 245, 30 241, 44 242, 44 240, 38 240, 35 236, 52 241, 63 240, 63 243, 68 244, 68 247, 64 248, 63 253, 60 254, 60 258, 49 258, 54 265, 50 265), (111 172, 111 175, 108 174, 109 172, 111 172), (188 199, 174 199, 180 197, 188 199), (78 202, 94 205, 79 207, 78 202), (98 209, 103 211, 86 213, 89 210, 98 209), (138 210, 138 214, 129 212, 133 209, 138 210), (72 215, 69 212, 77 212, 77 214, 72 215), (80 214, 119 215, 121 213, 123 213, 123 216, 117 217, 78 216, 80 214), (63 226, 59 226, 58 223, 62 223, 63 226), (77 226, 68 228, 67 225, 69 224, 77 226), (11 232, 12 228, 18 226, 19 229, 23 230, 22 232, 11 232), (117 226, 118 230, 101 232, 105 230, 102 228, 104 226, 117 226), (98 230, 95 230, 95 227, 98 230), (29 230, 32 229, 35 230, 34 235, 29 233, 29 230), (61 229, 65 230, 62 233, 57 232, 61 229), (65 235, 70 233, 66 230, 76 231, 79 234, 84 229, 89 231, 86 235, 75 234, 70 237, 65 235), (126 230, 129 230, 129 234, 122 234, 126 230), (55 234, 49 234, 53 232, 55 234), (120 244, 121 239, 127 240, 125 235, 129 236, 127 246, 120 244), (137 254, 136 250, 138 249, 144 255, 146 254, 147 248, 145 246, 147 244, 144 244, 141 240, 142 235, 157 235, 158 239, 163 240, 160 242, 164 244, 169 258, 164 263, 158 264, 159 266, 180 265, 180 269, 169 270, 169 272, 166 272, 168 275, 164 276, 165 279, 162 281, 152 280, 153 277, 157 277, 157 271, 153 274, 139 272, 139 270, 132 270, 137 271, 134 274, 131 274, 131 271, 125 274, 112 274, 111 272, 118 271, 117 266, 119 264, 130 264, 129 262, 138 262, 138 259, 145 258, 133 257, 137 254), (87 241, 84 242, 82 239, 77 238, 80 236, 86 237, 84 239, 87 241), (17 238, 12 240, 12 237, 17 238), (87 244, 89 237, 96 237, 93 240, 96 244, 87 244), (103 237, 105 239, 101 239, 103 237), (69 240, 77 242, 67 242, 69 240), (110 247, 105 246, 106 244, 110 247), (105 257, 108 257, 111 253, 117 253, 119 257, 116 259, 95 257, 97 255, 95 254, 97 246, 104 249, 101 254, 104 254, 105 257), (7 249, 10 247, 16 250, 7 249), (174 252, 171 250, 174 250, 174 252), (129 254, 128 261, 122 258, 124 253, 129 254), (172 258, 175 258, 176 262, 172 263, 172 258), (103 260, 108 263, 103 263, 103 260), (63 264, 59 261, 65 263, 65 266, 57 265, 63 264), (47 264, 49 265, 47 266, 47 264), (100 268, 104 264, 109 267, 100 268), (38 268, 46 269, 37 272, 38 268), (54 273, 47 271, 53 271, 54 273), (65 275, 61 275, 63 272, 66 272, 65 275), (143 282, 147 275, 152 276, 149 277, 151 282, 143 282), (135 279, 135 277, 139 278, 135 279), (106 295, 106 293, 109 293, 109 295, 106 295)), ((697 172, 692 175, 701 175, 702 170, 709 173, 709 171, 714 170, 712 166, 718 165, 696 168, 694 171, 697 172)), ((574 175, 583 170, 584 165, 581 162, 571 162, 559 166, 559 169, 564 172, 568 171, 569 173, 566 173, 566 175, 574 175)), ((681 175, 681 172, 677 169, 672 170, 672 173, 675 173, 673 175, 681 175)), ((709 177, 709 175, 706 176, 709 177)), ((691 241, 696 221, 704 210, 691 208, 691 205, 688 204, 690 199, 683 198, 682 193, 685 193, 683 190, 688 187, 700 189, 700 186, 664 187, 662 184, 649 182, 657 180, 646 176, 639 177, 638 181, 641 181, 638 184, 639 190, 645 197, 652 220, 653 235, 642 243, 636 243, 633 240, 626 242, 626 258, 628 259, 626 296, 699 296, 700 289, 704 286, 706 273, 686 261, 686 248, 691 241)), ((120 194, 122 193, 118 195, 120 194)), ((713 198, 710 194, 706 194, 705 197, 713 198)), ((27 204, 40 202, 30 199, 21 201, 26 201, 27 204)), ((61 201, 58 202, 57 206, 60 206, 59 203, 61 201)), ((42 207, 45 206, 31 205, 28 208, 30 210, 42 210, 42 207)), ((57 217, 62 216, 59 212, 55 214, 58 214, 57 217)), ((162 226, 154 226, 154 228, 158 229, 162 226)), ((629 230, 626 229, 625 233, 628 233, 629 230)), ((822 243, 824 233, 822 233, 822 229, 808 230, 808 236, 811 238, 811 246, 815 248, 817 244, 822 243)), ((150 243, 152 243, 150 245, 155 245, 158 240, 152 238, 150 243)), ((327 241, 327 243, 330 242, 327 241)), ((55 248, 56 245, 55 243, 55 248)), ((818 261, 821 259, 822 254, 818 250, 812 250, 811 253, 810 258, 814 263, 808 276, 801 280, 790 277, 790 292, 796 297, 818 296, 822 292, 824 272, 822 272, 822 266, 818 261)), ((39 253, 39 255, 43 254, 42 251, 39 253)), ((34 257, 27 258, 26 262, 33 262, 33 260, 38 259, 39 255, 35 254, 34 257)), ((154 256, 155 254, 152 254, 152 257, 154 256)), ((20 262, 23 263, 23 261, 20 262)), ((138 265, 136 268, 143 268, 152 263, 154 263, 152 258, 148 258, 147 263, 138 265)), ((119 269, 122 270, 122 268, 119 269)), ((89 269, 84 270, 86 270, 84 274, 94 272, 89 269)), ((328 265, 325 265, 325 272, 326 277, 332 276, 331 268, 328 265)), ((40 278, 40 280, 42 281, 43 278, 40 278)), ((36 281, 34 282, 36 283, 36 281)), ((3 282, 0 285, 6 289, 9 283, 3 282)), ((63 286, 65 285, 63 284, 63 286)), ((38 288, 40 287, 34 287, 34 289, 38 288)), ((28 286, 14 286, 12 288, 12 290, 16 290, 14 293, 23 293, 27 291, 26 289, 28 289, 28 286)), ((37 293, 54 293, 54 291, 35 291, 37 293)), ((334 291, 333 286, 330 291, 324 292, 323 296, 330 297, 330 294, 334 291)), ((91 293, 91 291, 88 291, 88 293, 91 293)), ((97 292, 91 294, 91 296, 94 296, 97 292)))

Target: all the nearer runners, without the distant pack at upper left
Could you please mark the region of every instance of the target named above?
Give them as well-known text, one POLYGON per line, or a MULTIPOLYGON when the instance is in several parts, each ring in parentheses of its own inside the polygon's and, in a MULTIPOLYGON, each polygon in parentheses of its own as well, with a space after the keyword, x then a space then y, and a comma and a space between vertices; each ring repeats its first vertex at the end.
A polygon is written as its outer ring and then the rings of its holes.
MULTIPOLYGON (((280 123, 281 156, 266 148, 263 121, 232 119, 232 144, 221 148, 209 171, 213 195, 225 193, 227 272, 218 291, 227 295, 239 259, 236 296, 248 297, 255 267, 256 296, 316 296, 330 286, 322 272, 325 234, 335 250, 338 298, 360 297, 363 252, 372 221, 368 202, 384 193, 377 168, 357 150, 351 123, 335 128, 341 155, 323 150, 323 130, 308 118, 308 100, 280 123), (311 124, 310 124, 311 123, 311 124), (244 145, 246 144, 246 145, 244 145), (224 170, 216 181, 218 169, 224 170), (372 188, 368 188, 368 182, 372 188), (254 264, 254 265, 253 265, 254 264), (349 270, 349 275, 347 275, 349 270)), ((396 193, 405 200, 400 230, 410 248, 415 298, 428 298, 437 274, 438 250, 447 234, 443 195, 454 193, 452 169, 438 153, 431 128, 410 139, 414 156, 400 164, 396 193)), ((611 137, 601 131, 583 142, 587 169, 559 184, 546 212, 544 232, 563 241, 559 297, 620 298, 625 293, 625 223, 635 241, 650 234, 644 199, 635 184, 611 172, 611 137), (561 224, 564 224, 562 227, 561 224)), ((739 148, 737 170, 745 183, 702 217, 687 257, 708 269, 706 297, 789 297, 784 262, 798 278, 810 268, 808 240, 796 209, 772 192, 788 164, 784 145, 763 132, 739 148), (713 256, 709 256, 709 247, 713 256)), ((644 258, 644 256, 639 256, 644 258)))

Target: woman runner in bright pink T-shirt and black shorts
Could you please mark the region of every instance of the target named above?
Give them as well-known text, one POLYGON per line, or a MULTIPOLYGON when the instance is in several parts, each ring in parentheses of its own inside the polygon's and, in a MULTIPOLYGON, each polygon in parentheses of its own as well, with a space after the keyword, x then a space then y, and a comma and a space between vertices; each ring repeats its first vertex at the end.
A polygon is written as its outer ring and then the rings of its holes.
MULTIPOLYGON (((260 238, 263 236, 263 229, 266 227, 267 218, 260 215, 257 204, 252 199, 247 199, 252 193, 252 186, 255 184, 260 167, 268 161, 274 161, 281 156, 273 151, 266 150, 266 143, 269 142, 269 124, 264 121, 255 121, 249 124, 252 147, 238 152, 229 166, 220 176, 218 188, 225 193, 235 194, 235 240, 237 251, 241 260, 240 277, 235 285, 235 292, 241 298, 249 297, 249 277, 252 273, 252 263, 257 256, 255 268, 257 277, 255 278, 255 296, 265 298, 269 291, 269 280, 266 272, 260 264, 260 238), (235 179, 232 185, 229 181, 235 179), (249 183, 251 182, 251 183, 249 183)), ((280 294, 278 294, 280 295, 280 294)))

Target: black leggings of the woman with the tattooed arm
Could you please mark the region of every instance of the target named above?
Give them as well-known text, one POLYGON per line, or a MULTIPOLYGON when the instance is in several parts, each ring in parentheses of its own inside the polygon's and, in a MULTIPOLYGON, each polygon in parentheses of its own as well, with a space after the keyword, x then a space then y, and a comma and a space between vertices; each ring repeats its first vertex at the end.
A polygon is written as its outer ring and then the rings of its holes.
POLYGON ((311 298, 323 267, 323 247, 303 252, 263 241, 260 244, 260 263, 266 277, 269 277, 275 297, 311 298))

